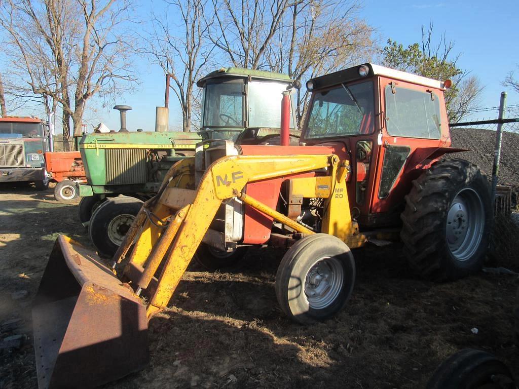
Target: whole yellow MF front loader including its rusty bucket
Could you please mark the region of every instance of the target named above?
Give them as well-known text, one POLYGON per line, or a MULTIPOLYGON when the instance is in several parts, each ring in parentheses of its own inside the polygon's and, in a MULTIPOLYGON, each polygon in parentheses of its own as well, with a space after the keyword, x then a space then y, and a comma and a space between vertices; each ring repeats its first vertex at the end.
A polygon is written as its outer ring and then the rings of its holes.
POLYGON ((194 189, 189 158, 172 166, 157 195, 143 205, 112 267, 60 236, 33 305, 40 389, 94 387, 147 364, 147 322, 166 308, 223 201, 239 198, 293 231, 315 233, 247 196, 248 183, 292 180, 299 195, 327 199, 322 232, 352 247, 362 244, 347 196, 340 196, 348 171, 347 161, 339 165, 333 154, 228 156, 211 164, 194 189), (302 174, 310 172, 324 174, 302 174), (110 369, 107 361, 115 361, 108 362, 110 369))

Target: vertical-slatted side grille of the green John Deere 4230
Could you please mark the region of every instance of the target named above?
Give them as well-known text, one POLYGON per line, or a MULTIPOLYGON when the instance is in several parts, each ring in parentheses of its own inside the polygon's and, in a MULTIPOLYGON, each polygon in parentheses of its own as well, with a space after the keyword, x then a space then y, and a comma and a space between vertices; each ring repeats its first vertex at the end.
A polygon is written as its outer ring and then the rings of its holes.
POLYGON ((144 184, 146 182, 145 149, 107 149, 106 185, 144 184))

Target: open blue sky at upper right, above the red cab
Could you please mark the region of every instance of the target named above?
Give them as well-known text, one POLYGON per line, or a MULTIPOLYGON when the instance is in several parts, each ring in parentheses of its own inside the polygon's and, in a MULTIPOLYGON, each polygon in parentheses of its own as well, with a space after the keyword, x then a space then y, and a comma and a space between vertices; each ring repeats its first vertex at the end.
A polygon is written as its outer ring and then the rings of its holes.
MULTIPOLYGON (((421 41, 421 26, 434 24, 436 39, 445 32, 455 42, 453 52, 460 53, 458 65, 471 71, 485 87, 482 107, 499 105, 500 94, 507 91, 507 105, 519 103, 519 93, 501 85, 511 70, 519 78, 519 1, 483 0, 448 2, 365 0, 363 15, 378 28, 383 39, 404 46, 421 41)), ((477 114, 477 118, 494 118, 497 113, 477 114)))

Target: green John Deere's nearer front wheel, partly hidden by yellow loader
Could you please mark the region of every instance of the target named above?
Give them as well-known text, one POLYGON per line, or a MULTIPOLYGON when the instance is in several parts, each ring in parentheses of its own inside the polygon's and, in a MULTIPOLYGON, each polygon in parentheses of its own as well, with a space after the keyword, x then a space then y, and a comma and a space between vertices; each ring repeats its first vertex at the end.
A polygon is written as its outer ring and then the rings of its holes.
POLYGON ((95 210, 88 234, 99 255, 114 256, 142 204, 141 200, 133 197, 119 196, 106 200, 95 210))

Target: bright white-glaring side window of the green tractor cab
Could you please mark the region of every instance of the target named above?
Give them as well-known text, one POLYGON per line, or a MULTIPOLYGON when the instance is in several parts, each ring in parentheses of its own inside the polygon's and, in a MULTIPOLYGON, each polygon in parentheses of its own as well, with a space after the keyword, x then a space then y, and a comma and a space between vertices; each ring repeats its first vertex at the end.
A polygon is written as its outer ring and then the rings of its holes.
MULTIPOLYGON (((249 82, 249 127, 281 127, 281 100, 286 86, 287 84, 272 81, 249 82)), ((292 107, 291 109, 293 111, 292 107)), ((290 128, 294 128, 292 113, 290 128)))

